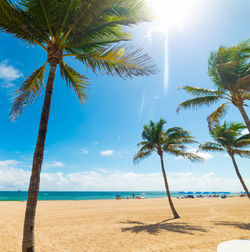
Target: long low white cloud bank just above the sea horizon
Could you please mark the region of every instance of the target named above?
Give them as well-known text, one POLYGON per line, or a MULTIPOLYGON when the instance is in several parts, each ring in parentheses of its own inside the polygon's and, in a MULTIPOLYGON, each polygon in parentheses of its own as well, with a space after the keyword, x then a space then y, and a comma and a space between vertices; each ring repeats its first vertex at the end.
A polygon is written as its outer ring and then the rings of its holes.
MULTIPOLYGON (((0 190, 27 190, 30 171, 18 167, 15 160, 0 161, 0 190)), ((213 172, 196 176, 191 172, 168 172, 171 191, 242 191, 239 180, 216 177, 213 172)), ((250 178, 244 178, 250 187, 250 178)), ((121 171, 83 171, 70 174, 42 172, 41 190, 164 190, 162 174, 121 171)))

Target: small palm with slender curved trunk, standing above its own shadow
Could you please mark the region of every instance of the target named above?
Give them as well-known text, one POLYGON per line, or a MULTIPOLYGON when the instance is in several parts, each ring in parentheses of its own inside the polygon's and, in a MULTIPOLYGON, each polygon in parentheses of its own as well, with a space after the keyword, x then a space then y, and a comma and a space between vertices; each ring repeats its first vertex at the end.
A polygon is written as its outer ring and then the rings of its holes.
POLYGON ((166 121, 160 119, 157 124, 150 121, 148 125, 144 125, 142 131, 143 141, 138 144, 141 148, 134 156, 134 162, 138 163, 142 159, 149 157, 154 151, 157 152, 161 159, 162 175, 171 211, 174 218, 180 218, 171 199, 167 175, 164 168, 163 154, 165 152, 177 157, 187 158, 191 161, 199 161, 201 158, 193 153, 185 151, 185 144, 195 143, 193 140, 194 137, 192 137, 187 130, 183 130, 180 127, 164 130, 163 127, 165 124, 166 121))

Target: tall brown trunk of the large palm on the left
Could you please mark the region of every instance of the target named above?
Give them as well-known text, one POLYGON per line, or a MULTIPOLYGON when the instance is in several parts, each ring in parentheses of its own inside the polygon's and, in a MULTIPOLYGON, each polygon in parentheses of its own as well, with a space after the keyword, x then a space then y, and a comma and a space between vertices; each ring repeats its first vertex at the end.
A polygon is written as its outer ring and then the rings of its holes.
POLYGON ((50 72, 47 81, 43 110, 41 114, 39 133, 35 153, 33 156, 32 173, 30 177, 28 200, 26 205, 24 228, 23 228, 23 244, 22 244, 23 252, 35 251, 34 225, 35 225, 36 206, 39 193, 40 172, 43 163, 44 145, 47 134, 52 91, 56 74, 56 66, 57 66, 56 62, 50 64, 50 72))

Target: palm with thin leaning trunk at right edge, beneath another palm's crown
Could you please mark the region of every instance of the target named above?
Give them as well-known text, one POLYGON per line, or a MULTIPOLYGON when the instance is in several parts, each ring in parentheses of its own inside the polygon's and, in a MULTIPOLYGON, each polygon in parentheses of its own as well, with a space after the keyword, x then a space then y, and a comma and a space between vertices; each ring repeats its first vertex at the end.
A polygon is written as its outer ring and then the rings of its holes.
POLYGON ((243 178, 241 177, 235 160, 235 155, 250 158, 250 151, 245 150, 245 148, 250 146, 250 134, 241 134, 242 130, 245 128, 246 127, 242 123, 228 124, 224 122, 223 125, 216 125, 210 132, 215 142, 202 143, 199 146, 199 150, 227 152, 232 159, 240 183, 250 199, 250 193, 246 184, 244 183, 243 178))

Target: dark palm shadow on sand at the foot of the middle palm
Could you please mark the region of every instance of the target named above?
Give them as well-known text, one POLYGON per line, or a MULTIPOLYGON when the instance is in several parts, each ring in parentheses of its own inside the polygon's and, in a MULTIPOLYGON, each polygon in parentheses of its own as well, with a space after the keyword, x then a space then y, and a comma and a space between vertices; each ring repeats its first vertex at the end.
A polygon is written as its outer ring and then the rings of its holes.
POLYGON ((123 224, 136 224, 133 227, 126 227, 121 228, 122 232, 148 232, 149 234, 158 234, 162 230, 182 233, 182 234, 190 234, 193 235, 194 232, 207 232, 206 229, 202 228, 201 226, 189 225, 185 222, 176 222, 176 223, 166 223, 170 220, 174 220, 174 218, 167 219, 161 222, 153 223, 153 224, 146 224, 139 221, 124 221, 120 222, 123 224))

